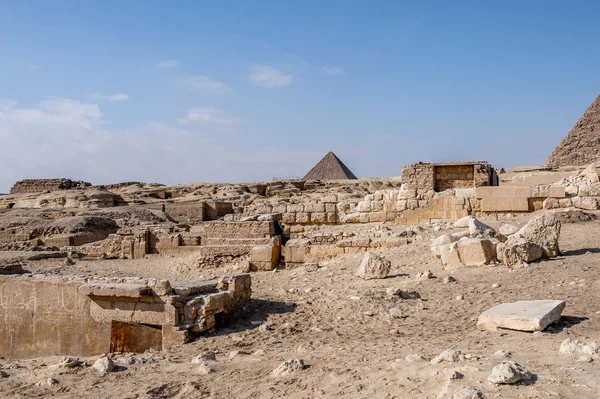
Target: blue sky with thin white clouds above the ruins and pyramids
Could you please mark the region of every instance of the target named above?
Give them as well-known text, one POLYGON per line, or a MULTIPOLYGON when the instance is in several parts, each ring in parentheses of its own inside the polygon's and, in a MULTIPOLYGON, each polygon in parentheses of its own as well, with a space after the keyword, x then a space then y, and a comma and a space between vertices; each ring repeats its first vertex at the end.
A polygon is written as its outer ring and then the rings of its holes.
POLYGON ((0 1, 0 192, 539 165, 600 93, 594 1, 0 1))

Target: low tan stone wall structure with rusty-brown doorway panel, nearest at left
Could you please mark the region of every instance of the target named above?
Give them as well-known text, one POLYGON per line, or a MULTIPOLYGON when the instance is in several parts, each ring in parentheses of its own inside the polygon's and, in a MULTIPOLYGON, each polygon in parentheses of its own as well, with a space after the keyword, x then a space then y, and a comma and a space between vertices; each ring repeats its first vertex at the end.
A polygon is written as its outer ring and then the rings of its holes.
POLYGON ((0 275, 0 356, 94 356, 180 345, 250 300, 248 274, 170 283, 0 275))

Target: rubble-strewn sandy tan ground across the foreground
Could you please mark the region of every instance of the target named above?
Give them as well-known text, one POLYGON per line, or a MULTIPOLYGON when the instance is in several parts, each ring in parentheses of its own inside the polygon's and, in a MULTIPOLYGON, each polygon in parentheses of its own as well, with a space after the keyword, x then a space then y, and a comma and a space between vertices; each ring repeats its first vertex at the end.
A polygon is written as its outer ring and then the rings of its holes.
MULTIPOLYGON (((532 216, 503 220, 521 226, 532 216)), ((0 397, 452 398, 458 389, 454 397, 598 398, 600 363, 559 353, 567 338, 600 342, 600 220, 573 219, 563 218, 561 256, 526 268, 445 270, 429 250, 431 238, 443 231, 429 226, 410 245, 379 251, 393 265, 383 280, 354 276, 361 255, 333 258, 316 271, 253 273, 253 300, 245 316, 226 327, 163 353, 116 356, 119 368, 108 374, 85 366, 59 368, 60 357, 0 358, 5 373, 0 397), (418 279, 425 270, 434 278, 418 279), (445 282, 448 276, 456 281, 445 282), (416 290, 421 299, 391 297, 390 287, 416 290), (562 299, 567 306, 560 322, 542 333, 476 328, 482 311, 527 299, 562 299), (402 317, 391 317, 391 308, 402 317), (461 360, 430 363, 447 349, 460 351, 461 360), (216 353, 209 374, 191 363, 204 351, 216 353), (305 369, 272 375, 292 358, 302 359, 305 369), (527 367, 534 378, 516 385, 487 382, 506 358, 527 367), (462 387, 483 396, 459 396, 462 387)), ((502 222, 484 221, 494 227, 502 222)), ((26 269, 172 280, 210 279, 230 271, 185 268, 174 257, 80 260, 72 266, 49 259, 29 262, 26 269)), ((81 360, 89 365, 96 358, 81 360)))

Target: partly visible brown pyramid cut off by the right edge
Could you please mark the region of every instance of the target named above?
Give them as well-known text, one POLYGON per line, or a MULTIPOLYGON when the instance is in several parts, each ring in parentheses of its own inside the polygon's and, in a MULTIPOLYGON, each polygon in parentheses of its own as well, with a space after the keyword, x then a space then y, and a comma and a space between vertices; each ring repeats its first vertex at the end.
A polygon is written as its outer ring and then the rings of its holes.
POLYGON ((600 96, 546 160, 545 166, 579 166, 600 162, 600 96))

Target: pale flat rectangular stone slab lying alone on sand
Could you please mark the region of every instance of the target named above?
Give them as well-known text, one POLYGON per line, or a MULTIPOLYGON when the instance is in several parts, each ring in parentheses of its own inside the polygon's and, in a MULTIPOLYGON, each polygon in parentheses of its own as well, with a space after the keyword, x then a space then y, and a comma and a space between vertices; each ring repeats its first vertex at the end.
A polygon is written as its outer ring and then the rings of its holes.
POLYGON ((542 331, 560 319, 565 301, 540 300, 503 303, 483 312, 477 320, 480 330, 542 331))

